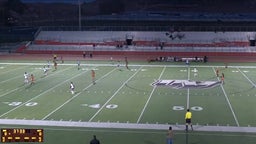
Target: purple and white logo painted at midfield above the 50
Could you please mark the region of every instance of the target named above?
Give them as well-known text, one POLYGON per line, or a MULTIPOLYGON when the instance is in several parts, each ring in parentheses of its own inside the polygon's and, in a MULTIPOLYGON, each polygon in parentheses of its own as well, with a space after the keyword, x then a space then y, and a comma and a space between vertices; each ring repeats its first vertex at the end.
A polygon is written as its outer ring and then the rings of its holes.
POLYGON ((213 88, 220 85, 220 81, 192 81, 192 80, 157 80, 152 86, 166 86, 175 89, 213 88))

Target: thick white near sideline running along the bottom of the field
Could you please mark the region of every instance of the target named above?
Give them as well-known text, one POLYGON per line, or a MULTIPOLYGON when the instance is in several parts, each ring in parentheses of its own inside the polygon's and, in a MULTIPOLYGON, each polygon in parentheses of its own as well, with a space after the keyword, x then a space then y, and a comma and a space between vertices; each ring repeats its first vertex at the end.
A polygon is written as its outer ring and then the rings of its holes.
MULTIPOLYGON (((25 126, 56 126, 56 127, 83 127, 83 128, 114 128, 114 129, 144 129, 144 130, 167 130, 172 124, 137 124, 137 123, 114 123, 114 122, 77 122, 77 121, 50 121, 50 120, 18 120, 0 119, 0 125, 25 125, 25 126)), ((173 130, 185 131, 184 125, 172 125, 173 130)), ((203 126, 194 125, 195 131, 208 132, 246 132, 256 133, 256 127, 236 126, 203 126)))

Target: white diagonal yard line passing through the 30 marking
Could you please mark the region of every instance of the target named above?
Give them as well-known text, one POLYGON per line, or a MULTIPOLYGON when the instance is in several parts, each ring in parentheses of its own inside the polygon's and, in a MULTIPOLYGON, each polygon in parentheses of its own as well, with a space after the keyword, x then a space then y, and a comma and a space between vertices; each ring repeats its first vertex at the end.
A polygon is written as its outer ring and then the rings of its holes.
MULTIPOLYGON (((71 67, 69 67, 69 68, 71 68, 71 67)), ((69 68, 66 68, 66 69, 69 69, 69 68)), ((65 69, 65 70, 66 70, 66 69, 65 69)), ((63 70, 63 71, 64 71, 64 70, 63 70)), ((58 72, 61 72, 61 71, 58 71, 58 72)), ((85 72, 86 72, 86 71, 85 71, 85 72)), ((57 73, 57 72, 56 72, 56 73, 57 73)), ((15 107, 15 108, 13 108, 13 109, 11 109, 11 110, 9 110, 9 111, 3 113, 2 115, 0 115, 0 117, 3 117, 4 115, 6 115, 6 114, 8 114, 8 113, 10 113, 10 112, 12 112, 12 111, 14 111, 14 110, 16 110, 17 108, 19 108, 19 107, 21 107, 21 106, 23 106, 23 105, 25 105, 25 104, 31 102, 32 100, 34 100, 34 99, 36 99, 36 98, 38 98, 38 97, 44 95, 44 94, 47 93, 47 92, 49 92, 49 91, 55 89, 56 87, 58 87, 58 86, 60 86, 60 85, 62 85, 62 84, 64 84, 64 83, 69 82, 71 79, 73 79, 73 78, 75 78, 75 77, 78 77, 78 76, 80 76, 81 74, 83 74, 83 73, 80 73, 80 74, 78 74, 78 75, 75 75, 75 76, 73 76, 73 77, 71 77, 71 78, 65 80, 64 82, 61 82, 61 83, 55 85, 54 87, 52 87, 52 88, 50 88, 50 89, 44 91, 43 93, 40 93, 39 95, 37 95, 37 96, 33 97, 32 99, 30 99, 30 100, 28 100, 28 101, 22 103, 21 105, 19 105, 19 106, 15 107)))

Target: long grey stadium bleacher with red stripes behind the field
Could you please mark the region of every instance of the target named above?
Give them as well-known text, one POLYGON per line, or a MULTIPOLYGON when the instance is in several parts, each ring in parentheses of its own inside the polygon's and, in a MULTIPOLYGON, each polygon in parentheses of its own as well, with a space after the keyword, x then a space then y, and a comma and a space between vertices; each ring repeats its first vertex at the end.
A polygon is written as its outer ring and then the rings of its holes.
POLYGON ((194 58, 204 56, 253 56, 254 32, 197 31, 41 31, 22 48, 28 54, 94 55, 194 58))

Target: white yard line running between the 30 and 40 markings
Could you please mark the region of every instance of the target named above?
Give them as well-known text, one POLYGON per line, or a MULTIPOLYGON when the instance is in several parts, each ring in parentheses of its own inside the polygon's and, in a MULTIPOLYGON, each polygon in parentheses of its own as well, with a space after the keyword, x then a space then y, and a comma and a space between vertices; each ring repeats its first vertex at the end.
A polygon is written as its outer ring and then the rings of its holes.
MULTIPOLYGON (((111 70, 110 72, 108 72, 107 74, 105 74, 104 76, 102 76, 101 78, 97 79, 97 81, 100 81, 101 79, 107 77, 109 74, 111 74, 113 71, 115 71, 116 69, 111 70)), ((74 98, 76 98, 77 96, 79 96, 83 91, 87 90, 89 87, 93 86, 93 84, 91 83, 90 85, 88 85, 87 87, 85 87, 81 92, 77 93, 76 95, 74 95, 72 98, 68 99, 65 103, 63 103, 62 105, 60 105, 59 107, 57 107, 55 110, 53 110, 52 112, 50 112, 49 114, 47 114, 45 117, 42 118, 42 120, 45 120, 46 118, 48 118, 50 115, 52 115, 53 113, 55 113, 56 111, 58 111, 59 109, 61 109, 64 105, 66 105, 67 103, 69 103, 70 101, 72 101, 74 98)))

